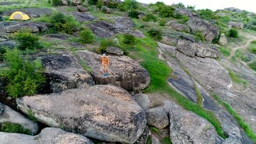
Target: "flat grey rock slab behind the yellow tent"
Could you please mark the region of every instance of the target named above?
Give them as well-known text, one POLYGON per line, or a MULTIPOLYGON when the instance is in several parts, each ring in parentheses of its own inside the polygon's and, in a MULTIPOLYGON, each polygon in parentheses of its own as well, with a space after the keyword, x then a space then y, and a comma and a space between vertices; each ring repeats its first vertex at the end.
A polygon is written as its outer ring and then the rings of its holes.
POLYGON ((53 10, 48 8, 22 8, 7 10, 1 15, 10 16, 14 11, 22 11, 23 13, 27 14, 30 17, 40 17, 44 15, 51 15, 53 13, 53 10))

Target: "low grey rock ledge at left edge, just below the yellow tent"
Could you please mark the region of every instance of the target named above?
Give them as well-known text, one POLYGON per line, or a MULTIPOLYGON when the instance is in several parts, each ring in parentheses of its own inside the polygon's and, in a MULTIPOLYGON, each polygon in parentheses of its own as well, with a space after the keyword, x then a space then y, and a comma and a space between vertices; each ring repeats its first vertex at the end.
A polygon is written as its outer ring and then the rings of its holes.
POLYGON ((5 22, 0 21, 0 32, 15 33, 22 28, 29 29, 32 33, 44 32, 48 29, 49 24, 44 22, 5 22))

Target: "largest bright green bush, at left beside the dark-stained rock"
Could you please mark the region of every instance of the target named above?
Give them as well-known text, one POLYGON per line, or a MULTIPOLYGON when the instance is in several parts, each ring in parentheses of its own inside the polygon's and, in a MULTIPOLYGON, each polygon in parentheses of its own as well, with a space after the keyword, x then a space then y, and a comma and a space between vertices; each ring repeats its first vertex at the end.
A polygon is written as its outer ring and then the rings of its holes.
POLYGON ((7 92, 11 97, 18 98, 24 95, 36 94, 37 89, 42 86, 45 79, 42 74, 42 66, 37 62, 25 61, 21 52, 17 49, 7 50, 5 55, 9 69, 4 71, 4 77, 9 84, 7 92))

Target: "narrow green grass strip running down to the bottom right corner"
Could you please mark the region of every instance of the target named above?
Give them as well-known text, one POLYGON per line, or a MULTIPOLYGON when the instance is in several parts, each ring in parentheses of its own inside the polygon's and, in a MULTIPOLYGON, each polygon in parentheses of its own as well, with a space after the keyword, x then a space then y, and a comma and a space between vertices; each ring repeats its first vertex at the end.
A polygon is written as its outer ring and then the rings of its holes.
POLYGON ((213 94, 213 97, 218 101, 219 104, 225 107, 225 109, 236 119, 237 123, 245 131, 246 135, 249 138, 251 138, 251 140, 253 140, 254 143, 256 143, 256 134, 254 134, 253 130, 249 127, 249 125, 243 121, 242 117, 238 116, 235 110, 233 110, 228 103, 225 103, 223 100, 220 100, 216 93, 213 94))

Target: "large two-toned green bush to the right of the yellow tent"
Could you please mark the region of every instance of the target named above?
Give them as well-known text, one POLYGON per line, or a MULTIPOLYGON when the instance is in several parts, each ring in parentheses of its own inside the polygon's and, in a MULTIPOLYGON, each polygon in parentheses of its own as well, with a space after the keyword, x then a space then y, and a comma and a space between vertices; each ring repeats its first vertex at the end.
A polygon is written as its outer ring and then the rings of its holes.
POLYGON ((73 16, 66 16, 60 12, 56 12, 49 17, 50 22, 53 23, 51 30, 53 32, 65 32, 67 34, 73 34, 77 32, 79 22, 75 20, 73 16))

